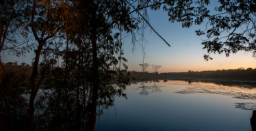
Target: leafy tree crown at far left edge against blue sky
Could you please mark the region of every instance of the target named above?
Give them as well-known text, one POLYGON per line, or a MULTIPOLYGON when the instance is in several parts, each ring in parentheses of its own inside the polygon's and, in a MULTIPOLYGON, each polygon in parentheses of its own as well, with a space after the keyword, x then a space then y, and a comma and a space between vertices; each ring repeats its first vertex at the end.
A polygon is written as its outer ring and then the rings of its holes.
MULTIPOLYGON (((28 38, 27 1, 0 1, 0 53, 12 50, 19 56, 24 50, 19 50, 28 38)), ((24 49, 24 48, 23 48, 24 49)), ((3 78, 3 65, 0 56, 0 86, 3 78)))

